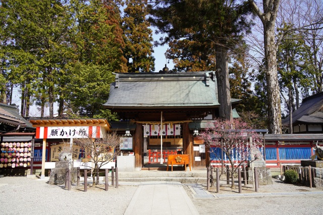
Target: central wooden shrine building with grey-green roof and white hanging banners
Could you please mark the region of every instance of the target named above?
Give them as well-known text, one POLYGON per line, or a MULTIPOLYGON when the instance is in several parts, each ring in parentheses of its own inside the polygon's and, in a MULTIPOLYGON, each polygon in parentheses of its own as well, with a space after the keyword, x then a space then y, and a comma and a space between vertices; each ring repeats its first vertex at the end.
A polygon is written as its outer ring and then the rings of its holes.
MULTIPOLYGON (((118 113, 119 126, 122 122, 124 127, 132 126, 136 170, 141 170, 143 156, 149 151, 164 154, 164 159, 170 151, 182 151, 189 154, 193 167, 205 167, 207 154, 193 130, 219 116, 216 75, 208 71, 164 72, 115 74, 103 106, 118 113)), ((239 101, 231 99, 233 108, 239 101)), ((113 122, 111 126, 113 130, 113 122)))

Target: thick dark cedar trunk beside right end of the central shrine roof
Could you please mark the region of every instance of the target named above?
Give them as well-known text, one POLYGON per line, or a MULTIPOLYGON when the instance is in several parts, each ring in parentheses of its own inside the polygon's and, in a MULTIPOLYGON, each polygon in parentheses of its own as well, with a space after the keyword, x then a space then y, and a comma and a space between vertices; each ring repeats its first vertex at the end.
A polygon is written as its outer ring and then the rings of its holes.
POLYGON ((218 99, 220 103, 219 117, 232 120, 232 106, 229 84, 228 49, 217 45, 216 47, 216 75, 218 84, 218 99))

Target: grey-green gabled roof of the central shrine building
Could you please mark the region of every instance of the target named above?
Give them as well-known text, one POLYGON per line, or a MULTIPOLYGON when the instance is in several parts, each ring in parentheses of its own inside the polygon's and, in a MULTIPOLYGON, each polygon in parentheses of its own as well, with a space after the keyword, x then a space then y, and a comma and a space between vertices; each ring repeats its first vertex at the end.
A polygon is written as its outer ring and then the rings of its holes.
POLYGON ((215 108, 219 105, 214 72, 116 74, 109 99, 103 104, 110 109, 215 108))

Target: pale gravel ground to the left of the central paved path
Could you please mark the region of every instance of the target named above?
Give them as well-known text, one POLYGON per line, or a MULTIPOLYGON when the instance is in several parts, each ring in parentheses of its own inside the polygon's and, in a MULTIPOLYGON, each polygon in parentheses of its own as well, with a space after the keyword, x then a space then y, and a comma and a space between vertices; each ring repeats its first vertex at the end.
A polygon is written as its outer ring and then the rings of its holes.
POLYGON ((0 214, 123 214, 137 186, 83 188, 68 191, 39 179, 0 178, 0 214))

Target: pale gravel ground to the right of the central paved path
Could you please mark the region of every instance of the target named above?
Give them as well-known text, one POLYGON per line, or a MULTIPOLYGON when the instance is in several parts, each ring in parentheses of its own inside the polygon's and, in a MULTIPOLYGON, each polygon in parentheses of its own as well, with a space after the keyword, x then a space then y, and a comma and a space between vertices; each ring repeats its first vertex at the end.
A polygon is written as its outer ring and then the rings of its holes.
MULTIPOLYGON (((248 196, 227 198, 193 198, 189 186, 184 186, 200 214, 323 214, 323 194, 286 195, 286 196, 248 196)), ((323 191, 322 188, 309 188, 285 184, 274 179, 273 185, 260 186, 259 193, 323 191)), ((216 187, 211 187, 216 194, 216 187)), ((224 185, 219 194, 238 193, 224 185)), ((242 193, 255 193, 254 188, 243 188, 242 193)))

